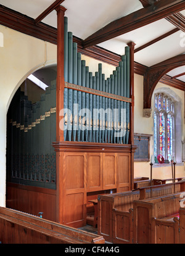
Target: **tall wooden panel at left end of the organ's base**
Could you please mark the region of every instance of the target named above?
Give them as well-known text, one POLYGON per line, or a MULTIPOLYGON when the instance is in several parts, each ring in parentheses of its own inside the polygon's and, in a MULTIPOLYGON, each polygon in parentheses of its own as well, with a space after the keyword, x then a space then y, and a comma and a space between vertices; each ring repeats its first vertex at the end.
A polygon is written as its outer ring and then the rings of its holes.
POLYGON ((86 153, 64 153, 63 204, 65 225, 86 223, 86 153))

